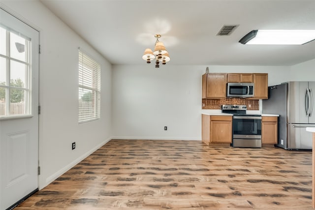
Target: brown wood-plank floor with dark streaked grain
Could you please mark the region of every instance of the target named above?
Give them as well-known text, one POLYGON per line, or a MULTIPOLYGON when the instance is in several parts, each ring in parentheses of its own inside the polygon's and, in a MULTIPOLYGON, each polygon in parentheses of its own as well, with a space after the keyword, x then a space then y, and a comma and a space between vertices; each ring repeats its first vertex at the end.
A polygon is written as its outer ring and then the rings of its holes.
POLYGON ((311 170, 311 151, 111 140, 15 210, 307 210, 311 170))

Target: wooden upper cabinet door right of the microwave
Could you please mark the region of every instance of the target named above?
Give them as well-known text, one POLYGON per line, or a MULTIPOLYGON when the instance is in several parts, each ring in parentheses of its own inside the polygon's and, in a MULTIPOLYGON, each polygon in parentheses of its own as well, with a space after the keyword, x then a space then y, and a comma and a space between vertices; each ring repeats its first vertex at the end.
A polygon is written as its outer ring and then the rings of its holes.
POLYGON ((267 99, 268 98, 268 74, 254 73, 254 98, 267 99))

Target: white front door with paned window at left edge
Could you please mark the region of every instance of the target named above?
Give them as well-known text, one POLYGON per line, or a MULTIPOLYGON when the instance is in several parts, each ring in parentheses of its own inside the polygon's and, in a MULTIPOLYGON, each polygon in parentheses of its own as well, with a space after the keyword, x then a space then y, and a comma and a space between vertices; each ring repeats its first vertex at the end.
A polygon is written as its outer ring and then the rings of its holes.
POLYGON ((38 188, 39 32, 0 8, 0 210, 38 188))

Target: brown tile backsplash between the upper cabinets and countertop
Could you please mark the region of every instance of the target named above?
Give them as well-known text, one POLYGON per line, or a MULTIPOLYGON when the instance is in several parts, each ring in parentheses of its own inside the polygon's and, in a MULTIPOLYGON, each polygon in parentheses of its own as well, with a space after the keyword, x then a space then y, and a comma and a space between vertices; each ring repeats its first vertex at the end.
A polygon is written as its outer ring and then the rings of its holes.
POLYGON ((221 109, 222 104, 247 105, 247 110, 259 110, 259 100, 245 98, 202 99, 202 109, 221 109))

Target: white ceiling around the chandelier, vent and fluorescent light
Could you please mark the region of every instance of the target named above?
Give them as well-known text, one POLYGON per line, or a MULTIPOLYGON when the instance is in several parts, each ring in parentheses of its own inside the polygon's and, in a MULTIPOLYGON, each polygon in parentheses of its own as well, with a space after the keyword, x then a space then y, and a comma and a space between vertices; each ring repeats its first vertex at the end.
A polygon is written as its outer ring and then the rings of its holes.
MULTIPOLYGON (((113 64, 145 64, 154 34, 169 64, 293 65, 315 59, 304 45, 243 45, 251 30, 315 30, 315 0, 41 0, 113 64), (239 25, 217 36, 223 25, 239 25)), ((151 64, 153 65, 153 64, 151 64)))

